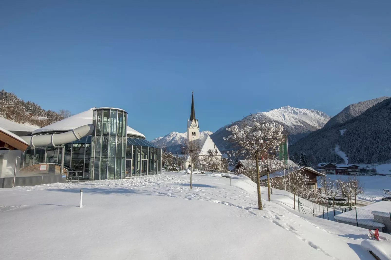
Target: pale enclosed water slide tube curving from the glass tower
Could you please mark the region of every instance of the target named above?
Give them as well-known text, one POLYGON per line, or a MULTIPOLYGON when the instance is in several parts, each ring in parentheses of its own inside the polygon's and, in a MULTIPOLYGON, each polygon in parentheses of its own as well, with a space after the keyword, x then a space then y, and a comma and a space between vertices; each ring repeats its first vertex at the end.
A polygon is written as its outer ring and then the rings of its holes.
POLYGON ((87 135, 91 135, 94 130, 94 125, 83 125, 72 129, 68 132, 61 134, 50 134, 50 135, 32 135, 32 136, 22 136, 24 141, 26 141, 31 147, 40 147, 40 146, 59 146, 61 144, 67 144, 79 140, 87 135))

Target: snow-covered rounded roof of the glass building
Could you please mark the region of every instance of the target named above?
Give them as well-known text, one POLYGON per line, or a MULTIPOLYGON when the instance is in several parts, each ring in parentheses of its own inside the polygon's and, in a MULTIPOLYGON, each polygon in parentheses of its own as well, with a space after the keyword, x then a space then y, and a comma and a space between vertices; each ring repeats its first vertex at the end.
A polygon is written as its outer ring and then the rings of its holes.
MULTIPOLYGON (((36 129, 32 132, 32 134, 34 135, 34 134, 41 134, 47 132, 64 132, 64 131, 75 129, 83 125, 92 124, 92 115, 93 115, 92 111, 95 109, 96 108, 93 107, 91 109, 88 109, 79 114, 75 114, 74 116, 70 116, 69 118, 65 118, 51 125, 47 125, 42 128, 36 129)), ((129 126, 126 127, 126 134, 145 138, 145 135, 141 134, 140 132, 136 131, 135 129, 129 126)))

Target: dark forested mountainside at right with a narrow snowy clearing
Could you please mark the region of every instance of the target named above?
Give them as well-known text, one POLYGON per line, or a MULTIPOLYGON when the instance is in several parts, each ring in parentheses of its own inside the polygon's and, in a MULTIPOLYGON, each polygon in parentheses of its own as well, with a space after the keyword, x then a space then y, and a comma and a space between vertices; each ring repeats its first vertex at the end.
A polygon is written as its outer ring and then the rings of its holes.
POLYGON ((316 162, 344 162, 335 147, 346 153, 349 163, 375 163, 391 159, 391 98, 344 123, 323 127, 290 146, 298 158, 306 153, 316 162))

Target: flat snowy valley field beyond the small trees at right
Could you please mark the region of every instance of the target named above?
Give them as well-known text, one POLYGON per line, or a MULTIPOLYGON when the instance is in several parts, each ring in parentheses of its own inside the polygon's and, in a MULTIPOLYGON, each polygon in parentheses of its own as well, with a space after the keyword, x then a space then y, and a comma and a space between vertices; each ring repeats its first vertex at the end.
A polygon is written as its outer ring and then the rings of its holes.
MULTIPOLYGON (((348 178, 352 178, 353 176, 349 175, 326 175, 327 178, 331 178, 333 180, 341 179, 347 180, 348 178)), ((364 199, 368 201, 381 201, 384 198, 384 189, 391 190, 391 176, 355 176, 363 185, 364 193, 357 195, 357 198, 364 199)), ((318 178, 319 179, 319 178, 318 178)), ((321 186, 321 182, 318 182, 319 187, 321 186)))

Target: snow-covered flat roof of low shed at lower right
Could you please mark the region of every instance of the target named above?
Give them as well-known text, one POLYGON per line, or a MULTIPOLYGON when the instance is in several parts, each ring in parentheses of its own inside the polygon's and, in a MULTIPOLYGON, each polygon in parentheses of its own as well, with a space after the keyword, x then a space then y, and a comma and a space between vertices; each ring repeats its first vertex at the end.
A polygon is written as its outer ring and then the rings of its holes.
MULTIPOLYGON (((366 226, 373 226, 377 228, 383 228, 384 224, 375 222, 373 220, 373 215, 381 215, 387 214, 389 217, 389 212, 391 211, 391 201, 380 201, 377 203, 373 203, 364 207, 361 207, 360 210, 357 210, 357 220, 359 224, 363 224, 366 226)), ((350 223, 356 223, 356 212, 355 210, 351 210, 339 215, 335 215, 334 219, 339 221, 345 221, 350 223)))

